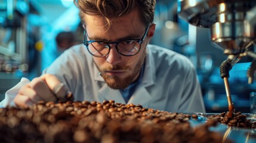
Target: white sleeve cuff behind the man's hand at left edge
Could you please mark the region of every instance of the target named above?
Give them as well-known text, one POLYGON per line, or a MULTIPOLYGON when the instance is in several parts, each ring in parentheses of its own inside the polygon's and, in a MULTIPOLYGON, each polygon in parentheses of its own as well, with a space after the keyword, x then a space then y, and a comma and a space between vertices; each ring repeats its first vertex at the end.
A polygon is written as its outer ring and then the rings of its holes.
POLYGON ((14 98, 16 97, 16 95, 18 94, 18 91, 20 91, 20 88, 23 85, 26 85, 27 83, 29 83, 30 80, 26 79, 25 77, 22 77, 20 82, 17 83, 16 86, 14 86, 13 88, 9 89, 7 92, 5 92, 5 98, 4 100, 2 100, 0 102, 0 107, 7 107, 7 105, 9 106, 15 106, 14 104, 14 98))

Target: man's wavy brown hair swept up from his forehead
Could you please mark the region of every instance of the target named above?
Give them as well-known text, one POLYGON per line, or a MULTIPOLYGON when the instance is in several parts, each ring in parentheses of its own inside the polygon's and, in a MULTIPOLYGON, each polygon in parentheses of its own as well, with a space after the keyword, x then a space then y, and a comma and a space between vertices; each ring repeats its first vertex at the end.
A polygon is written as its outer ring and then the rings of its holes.
POLYGON ((80 10, 82 23, 84 14, 101 15, 110 27, 110 18, 121 17, 136 8, 145 25, 153 23, 156 0, 74 0, 74 4, 80 10))

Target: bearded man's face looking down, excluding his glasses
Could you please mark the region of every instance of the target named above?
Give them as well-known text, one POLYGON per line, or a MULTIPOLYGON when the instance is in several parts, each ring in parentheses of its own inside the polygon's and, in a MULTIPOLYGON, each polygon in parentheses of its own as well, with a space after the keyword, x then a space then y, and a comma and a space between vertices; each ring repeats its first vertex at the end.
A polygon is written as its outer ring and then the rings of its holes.
MULTIPOLYGON (((90 38, 87 40, 118 42, 124 39, 141 39, 146 32, 146 26, 140 20, 137 11, 112 19, 108 30, 106 30, 105 20, 99 16, 85 15, 84 20, 87 35, 90 38)), ((140 52, 130 57, 119 54, 114 44, 111 45, 110 52, 106 57, 93 57, 101 76, 110 88, 127 88, 138 78, 146 58, 146 45, 150 38, 150 35, 146 36, 141 44, 140 52)))

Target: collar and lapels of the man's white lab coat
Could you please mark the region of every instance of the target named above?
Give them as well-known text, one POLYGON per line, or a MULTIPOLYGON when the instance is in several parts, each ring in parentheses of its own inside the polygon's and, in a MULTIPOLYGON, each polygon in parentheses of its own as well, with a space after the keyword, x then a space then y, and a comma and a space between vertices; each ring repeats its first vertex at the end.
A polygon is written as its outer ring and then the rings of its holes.
MULTIPOLYGON (((146 55, 146 63, 145 63, 145 69, 143 73, 143 79, 138 85, 137 89, 134 92, 134 96, 132 96, 128 103, 134 103, 134 104, 143 104, 144 102, 147 102, 150 100, 151 95, 147 91, 146 87, 155 84, 156 75, 155 75, 155 61, 153 58, 153 54, 151 52, 151 49, 147 47, 147 55, 146 55)), ((98 71, 97 67, 94 65, 94 80, 97 82, 104 82, 103 77, 100 76, 100 72, 98 71)), ((103 84, 103 86, 99 89, 98 95, 101 99, 104 100, 115 100, 116 102, 124 103, 124 98, 121 95, 121 92, 119 90, 111 89, 109 86, 107 86, 106 83, 103 84)))

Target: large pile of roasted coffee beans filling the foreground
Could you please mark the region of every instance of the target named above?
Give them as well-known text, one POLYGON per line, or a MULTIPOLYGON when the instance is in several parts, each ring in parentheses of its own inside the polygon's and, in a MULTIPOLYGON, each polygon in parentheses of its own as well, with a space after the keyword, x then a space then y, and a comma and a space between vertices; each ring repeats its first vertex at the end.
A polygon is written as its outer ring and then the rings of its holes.
MULTIPOLYGON (((1 142, 221 142, 209 127, 193 128, 195 114, 169 113, 141 105, 103 102, 38 102, 29 108, 0 108, 1 142)), ((230 141, 226 141, 230 142, 230 141)))

